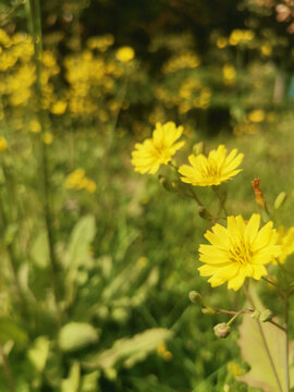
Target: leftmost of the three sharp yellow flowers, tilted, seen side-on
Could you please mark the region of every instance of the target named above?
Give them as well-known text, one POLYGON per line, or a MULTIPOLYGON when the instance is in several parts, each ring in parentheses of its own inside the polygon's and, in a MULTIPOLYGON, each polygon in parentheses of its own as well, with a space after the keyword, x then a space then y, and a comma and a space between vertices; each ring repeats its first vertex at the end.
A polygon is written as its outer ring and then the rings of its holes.
POLYGON ((157 123, 152 138, 135 145, 132 152, 132 164, 135 171, 155 174, 161 164, 168 164, 174 154, 184 146, 185 142, 175 143, 183 133, 183 126, 173 122, 157 123))

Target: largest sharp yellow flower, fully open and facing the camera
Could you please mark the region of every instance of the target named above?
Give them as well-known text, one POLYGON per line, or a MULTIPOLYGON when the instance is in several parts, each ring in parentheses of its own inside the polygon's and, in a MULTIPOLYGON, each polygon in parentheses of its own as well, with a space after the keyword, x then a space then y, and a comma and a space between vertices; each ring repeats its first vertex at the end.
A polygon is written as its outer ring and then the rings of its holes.
POLYGON ((254 213, 245 223, 241 216, 228 217, 228 229, 220 224, 207 231, 205 237, 210 245, 199 246, 198 268, 201 277, 216 287, 228 281, 228 289, 237 291, 246 277, 259 280, 267 274, 265 265, 278 257, 278 233, 268 222, 260 230, 260 216, 254 213))

